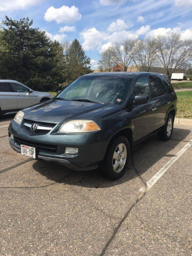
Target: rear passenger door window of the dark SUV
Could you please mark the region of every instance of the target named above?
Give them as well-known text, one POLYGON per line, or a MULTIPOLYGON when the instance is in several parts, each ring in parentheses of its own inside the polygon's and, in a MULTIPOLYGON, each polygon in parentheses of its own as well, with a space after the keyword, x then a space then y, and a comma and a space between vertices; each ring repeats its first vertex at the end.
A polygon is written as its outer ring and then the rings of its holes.
POLYGON ((153 98, 164 95, 166 93, 163 82, 160 78, 157 76, 149 76, 149 81, 151 84, 153 98))

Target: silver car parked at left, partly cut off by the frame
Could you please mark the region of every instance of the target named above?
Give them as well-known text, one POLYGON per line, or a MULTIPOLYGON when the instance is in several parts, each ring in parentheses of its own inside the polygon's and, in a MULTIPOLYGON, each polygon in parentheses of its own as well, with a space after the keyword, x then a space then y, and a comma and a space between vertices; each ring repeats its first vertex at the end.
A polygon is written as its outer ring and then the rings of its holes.
POLYGON ((17 113, 18 110, 52 99, 52 95, 36 92, 14 80, 0 80, 0 115, 17 113))

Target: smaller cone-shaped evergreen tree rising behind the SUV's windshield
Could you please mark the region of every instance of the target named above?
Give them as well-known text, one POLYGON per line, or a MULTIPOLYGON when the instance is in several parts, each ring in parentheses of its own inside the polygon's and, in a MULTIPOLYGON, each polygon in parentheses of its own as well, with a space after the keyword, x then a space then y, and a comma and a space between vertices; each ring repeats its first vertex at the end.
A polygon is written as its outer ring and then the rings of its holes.
POLYGON ((82 45, 77 39, 69 45, 67 51, 67 80, 73 81, 78 76, 92 73, 90 58, 87 57, 82 45))

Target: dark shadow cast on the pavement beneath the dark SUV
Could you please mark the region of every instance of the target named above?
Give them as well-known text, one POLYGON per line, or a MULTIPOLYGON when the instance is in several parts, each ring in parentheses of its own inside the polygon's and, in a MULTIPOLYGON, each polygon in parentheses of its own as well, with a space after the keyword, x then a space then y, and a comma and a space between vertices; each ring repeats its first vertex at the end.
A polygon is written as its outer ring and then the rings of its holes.
POLYGON ((138 175, 145 173, 162 157, 174 156, 173 154, 169 154, 170 151, 173 150, 181 141, 185 141, 190 132, 190 130, 176 128, 174 129, 173 138, 170 141, 166 142, 158 140, 157 135, 154 135, 148 140, 141 142, 133 149, 133 157, 130 159, 127 171, 121 179, 116 181, 106 179, 99 170, 76 172, 67 169, 65 166, 45 163, 44 161, 35 162, 33 167, 41 175, 55 182, 63 182, 69 185, 89 188, 113 187, 137 178, 138 175), (135 168, 137 170, 135 170, 135 168))

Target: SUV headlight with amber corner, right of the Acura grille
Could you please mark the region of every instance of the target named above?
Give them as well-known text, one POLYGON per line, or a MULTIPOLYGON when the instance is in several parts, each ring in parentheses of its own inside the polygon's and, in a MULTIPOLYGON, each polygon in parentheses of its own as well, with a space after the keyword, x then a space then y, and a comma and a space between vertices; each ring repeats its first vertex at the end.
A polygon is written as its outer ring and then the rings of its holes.
POLYGON ((101 130, 92 120, 73 120, 61 126, 59 132, 95 132, 101 130))

